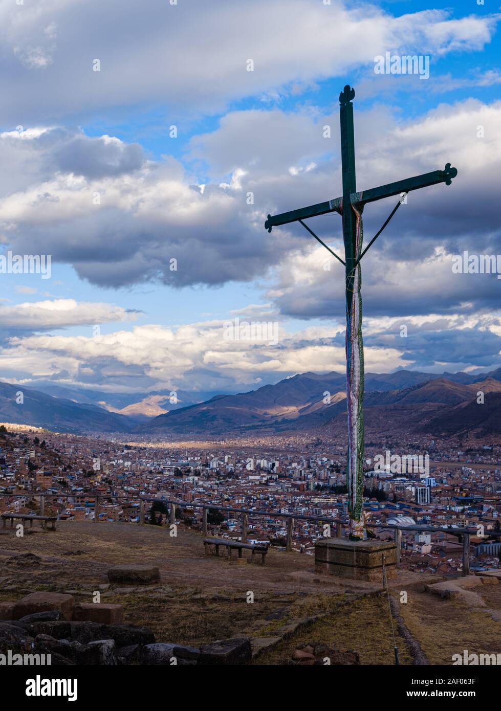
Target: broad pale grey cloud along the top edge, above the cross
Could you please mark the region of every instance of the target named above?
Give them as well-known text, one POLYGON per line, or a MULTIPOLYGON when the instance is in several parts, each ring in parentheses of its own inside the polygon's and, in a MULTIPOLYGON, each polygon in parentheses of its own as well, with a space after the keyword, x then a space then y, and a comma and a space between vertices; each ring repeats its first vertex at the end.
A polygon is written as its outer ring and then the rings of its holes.
POLYGON ((2 0, 0 66, 11 100, 2 102, 0 121, 166 101, 181 112, 217 111, 241 97, 343 75, 386 50, 478 50, 496 22, 438 10, 396 18, 336 0, 2 0))

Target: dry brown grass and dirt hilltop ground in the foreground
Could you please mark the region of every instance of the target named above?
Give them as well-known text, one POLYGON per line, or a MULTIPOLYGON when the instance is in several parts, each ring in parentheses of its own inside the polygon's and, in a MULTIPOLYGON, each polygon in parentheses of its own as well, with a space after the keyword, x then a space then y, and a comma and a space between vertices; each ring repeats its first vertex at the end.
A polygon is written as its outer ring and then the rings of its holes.
MULTIPOLYGON (((399 572, 390 582, 396 599, 407 592, 401 616, 428 660, 450 664, 452 654, 463 649, 500 653, 501 623, 486 611, 423 592, 424 583, 439 580, 399 572)), ((363 664, 394 663, 391 616, 380 584, 321 576, 312 556, 295 552, 272 549, 265 566, 206 556, 201 534, 182 526, 176 538, 167 528, 127 523, 62 522, 56 532, 26 529, 23 538, 15 529, 0 530, 0 602, 35 590, 71 591, 79 602, 92 602, 100 591, 101 602, 124 605, 125 621, 148 626, 157 641, 191 646, 232 636, 275 636, 291 621, 327 612, 254 663, 285 663, 296 646, 311 641, 357 651, 363 664), (16 559, 26 553, 40 560, 16 559), (124 563, 157 565, 160 584, 110 586, 107 569, 124 563)), ((501 610, 501 584, 482 586, 479 594, 490 609, 501 610)), ((401 663, 410 664, 406 642, 394 629, 401 663)))

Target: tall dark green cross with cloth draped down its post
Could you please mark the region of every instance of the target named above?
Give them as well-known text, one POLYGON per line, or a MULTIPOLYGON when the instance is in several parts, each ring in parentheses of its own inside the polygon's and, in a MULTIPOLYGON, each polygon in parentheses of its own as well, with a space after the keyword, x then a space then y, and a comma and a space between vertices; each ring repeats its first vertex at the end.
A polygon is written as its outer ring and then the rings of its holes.
POLYGON ((364 346, 362 342, 362 271, 360 260, 372 245, 376 237, 384 230, 389 220, 401 205, 401 200, 389 215, 381 230, 362 251, 362 211, 366 203, 372 203, 382 198, 401 195, 418 188, 426 188, 437 183, 450 185, 458 174, 450 163, 443 171, 424 173, 421 176, 388 183, 357 193, 355 179, 355 142, 353 130, 353 104, 355 90, 345 86, 339 94, 339 113, 341 119, 341 159, 343 194, 325 203, 310 205, 307 208, 291 210, 281 215, 268 215, 265 228, 271 232, 273 227, 300 222, 315 239, 344 264, 346 270, 346 355, 347 355, 347 410, 348 410, 348 454, 347 454, 347 488, 349 511, 349 537, 352 540, 364 538, 364 517, 362 514, 362 493, 364 489, 364 346), (315 235, 303 220, 306 218, 337 212, 342 215, 344 260, 334 254, 320 237, 315 235))

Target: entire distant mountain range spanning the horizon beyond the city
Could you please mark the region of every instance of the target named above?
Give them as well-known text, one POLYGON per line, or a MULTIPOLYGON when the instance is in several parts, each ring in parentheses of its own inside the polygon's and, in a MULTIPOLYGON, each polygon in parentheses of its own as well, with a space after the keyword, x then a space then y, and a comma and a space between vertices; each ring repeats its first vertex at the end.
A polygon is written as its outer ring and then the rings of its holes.
MULTIPOLYGON (((110 396, 52 383, 42 383, 40 390, 0 383, 0 420, 59 432, 159 437, 298 431, 342 435, 346 432, 345 383, 339 373, 302 373, 258 390, 215 395, 203 402, 196 402, 194 392, 179 391, 181 402, 174 405, 166 391, 110 396), (16 402, 19 391, 22 404, 16 402), (183 400, 189 405, 183 406, 183 400)), ((477 375, 415 370, 366 373, 364 404, 368 433, 500 434, 501 368, 477 375), (479 391, 485 393, 483 405, 477 402, 479 391)))

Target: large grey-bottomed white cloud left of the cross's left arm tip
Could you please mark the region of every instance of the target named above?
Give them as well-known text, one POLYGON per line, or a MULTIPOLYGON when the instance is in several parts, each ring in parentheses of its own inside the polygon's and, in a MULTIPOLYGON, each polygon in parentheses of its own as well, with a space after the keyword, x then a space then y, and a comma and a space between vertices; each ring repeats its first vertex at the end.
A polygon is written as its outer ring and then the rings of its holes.
POLYGON ((30 166, 24 189, 14 167, 0 199, 16 253, 50 254, 108 287, 249 281, 278 260, 238 180, 202 191, 175 159, 144 161, 137 146, 67 129, 3 134, 2 151, 30 166))

